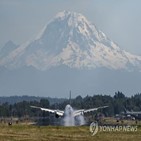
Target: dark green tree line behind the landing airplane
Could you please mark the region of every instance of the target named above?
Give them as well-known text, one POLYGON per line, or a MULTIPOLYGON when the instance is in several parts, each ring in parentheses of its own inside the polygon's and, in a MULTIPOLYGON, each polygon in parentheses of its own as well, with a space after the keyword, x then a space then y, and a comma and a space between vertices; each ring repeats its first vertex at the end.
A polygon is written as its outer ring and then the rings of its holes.
MULTIPOLYGON (((46 98, 40 101, 22 101, 14 104, 8 102, 0 105, 0 117, 42 117, 48 116, 49 113, 41 110, 33 109, 30 106, 39 106, 51 109, 64 110, 65 106, 69 104, 69 100, 65 100, 61 103, 50 104, 46 98)), ((109 106, 103 110, 105 116, 114 116, 125 111, 125 109, 131 111, 141 111, 141 94, 136 94, 131 97, 126 97, 122 92, 116 92, 114 96, 110 95, 93 95, 81 97, 80 95, 72 99, 71 105, 74 109, 89 109, 100 106, 109 106)))

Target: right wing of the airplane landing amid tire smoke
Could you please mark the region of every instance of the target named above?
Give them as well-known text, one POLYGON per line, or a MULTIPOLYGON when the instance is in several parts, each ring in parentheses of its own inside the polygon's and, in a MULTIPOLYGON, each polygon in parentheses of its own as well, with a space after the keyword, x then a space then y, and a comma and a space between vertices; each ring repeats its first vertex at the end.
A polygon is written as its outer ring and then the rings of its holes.
POLYGON ((85 113, 88 113, 88 112, 93 112, 93 111, 97 111, 99 109, 104 109, 104 108, 107 108, 109 106, 102 106, 102 107, 97 107, 97 108, 91 108, 91 109, 81 109, 81 110, 76 110, 74 111, 74 116, 79 116, 79 115, 82 115, 82 114, 85 114, 85 113))

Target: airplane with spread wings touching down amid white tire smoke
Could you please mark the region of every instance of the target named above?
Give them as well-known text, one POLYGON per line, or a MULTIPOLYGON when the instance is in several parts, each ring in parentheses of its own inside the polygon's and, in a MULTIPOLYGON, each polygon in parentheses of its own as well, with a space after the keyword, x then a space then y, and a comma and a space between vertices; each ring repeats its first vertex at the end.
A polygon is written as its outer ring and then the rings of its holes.
POLYGON ((71 92, 70 92, 70 104, 66 105, 64 111, 59 110, 59 109, 48 109, 48 108, 42 108, 42 107, 37 107, 37 106, 30 106, 30 107, 40 109, 42 111, 46 111, 49 113, 53 113, 53 114, 55 114, 56 118, 59 118, 59 117, 65 117, 66 115, 71 116, 71 117, 77 117, 80 115, 85 115, 86 113, 89 113, 89 112, 93 112, 93 111, 97 111, 99 109, 107 108, 109 106, 101 106, 101 107, 91 108, 91 109, 73 110, 73 108, 71 106, 71 92))

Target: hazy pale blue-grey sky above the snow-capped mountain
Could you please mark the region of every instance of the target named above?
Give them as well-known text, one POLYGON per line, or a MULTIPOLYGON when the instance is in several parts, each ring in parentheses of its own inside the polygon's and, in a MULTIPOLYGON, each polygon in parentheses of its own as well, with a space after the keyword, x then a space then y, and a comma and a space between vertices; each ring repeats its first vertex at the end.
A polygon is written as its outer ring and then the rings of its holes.
POLYGON ((141 0, 0 0, 0 47, 33 39, 63 10, 82 13, 122 49, 141 55, 141 0))

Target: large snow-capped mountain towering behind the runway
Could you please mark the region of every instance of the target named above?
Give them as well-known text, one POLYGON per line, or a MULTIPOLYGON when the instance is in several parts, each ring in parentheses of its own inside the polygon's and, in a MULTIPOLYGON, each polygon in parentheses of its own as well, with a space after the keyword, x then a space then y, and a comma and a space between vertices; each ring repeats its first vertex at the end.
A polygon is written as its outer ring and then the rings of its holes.
POLYGON ((58 13, 35 40, 12 49, 0 60, 7 68, 32 66, 38 70, 65 65, 77 69, 141 70, 141 56, 119 48, 79 13, 58 13))

